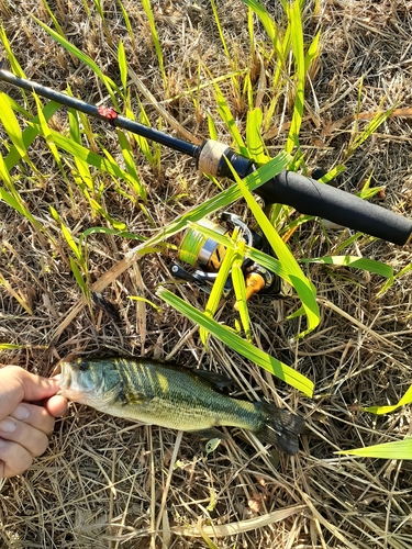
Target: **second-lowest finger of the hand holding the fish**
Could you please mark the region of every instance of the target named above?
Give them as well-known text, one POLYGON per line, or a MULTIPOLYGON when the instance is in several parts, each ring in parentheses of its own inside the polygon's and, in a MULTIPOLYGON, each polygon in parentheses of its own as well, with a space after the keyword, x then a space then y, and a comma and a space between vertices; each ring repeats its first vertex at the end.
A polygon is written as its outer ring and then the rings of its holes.
MULTIPOLYGON (((32 456, 41 456, 48 446, 48 438, 43 430, 19 422, 11 416, 0 422, 0 439, 18 442, 32 456)), ((0 459, 2 458, 0 457, 0 459)))

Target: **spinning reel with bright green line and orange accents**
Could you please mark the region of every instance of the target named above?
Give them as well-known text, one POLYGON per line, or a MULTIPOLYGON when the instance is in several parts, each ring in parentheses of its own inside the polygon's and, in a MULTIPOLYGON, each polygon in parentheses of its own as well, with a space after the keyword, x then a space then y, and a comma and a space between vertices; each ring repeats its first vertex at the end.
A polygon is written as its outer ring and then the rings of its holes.
MULTIPOLYGON (((265 253, 270 253, 270 247, 266 239, 245 225, 237 215, 223 212, 220 214, 218 221, 220 223, 204 219, 201 220, 199 224, 222 235, 230 235, 235 227, 238 227, 248 246, 265 253), (221 223, 224 223, 224 225, 221 223)), ((180 264, 174 262, 170 272, 177 278, 194 282, 203 291, 210 293, 211 285, 218 277, 225 253, 226 248, 222 244, 213 238, 204 236, 199 231, 189 228, 181 239, 178 257, 180 261, 190 266, 191 269, 187 270, 180 264)), ((247 300, 258 292, 270 294, 280 293, 281 281, 279 277, 265 267, 245 258, 242 270, 245 277, 247 300)), ((232 288, 233 282, 230 276, 224 287, 224 291, 229 293, 232 288)))

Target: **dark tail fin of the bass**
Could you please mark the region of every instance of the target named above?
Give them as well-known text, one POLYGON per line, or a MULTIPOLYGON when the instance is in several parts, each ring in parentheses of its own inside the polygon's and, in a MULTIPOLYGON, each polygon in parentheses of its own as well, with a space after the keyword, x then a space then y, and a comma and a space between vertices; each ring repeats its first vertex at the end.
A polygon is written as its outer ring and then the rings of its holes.
POLYGON ((304 430, 302 417, 266 402, 256 405, 264 413, 264 422, 254 434, 261 442, 271 444, 278 450, 293 456, 299 449, 298 437, 304 430))

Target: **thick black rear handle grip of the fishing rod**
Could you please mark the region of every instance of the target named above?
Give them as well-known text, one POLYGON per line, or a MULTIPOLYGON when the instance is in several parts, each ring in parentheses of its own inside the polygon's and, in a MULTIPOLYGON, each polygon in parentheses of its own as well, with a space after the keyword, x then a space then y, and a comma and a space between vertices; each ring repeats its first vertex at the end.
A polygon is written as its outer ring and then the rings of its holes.
POLYGON ((290 205, 302 214, 316 215, 400 246, 412 236, 412 221, 408 217, 294 171, 281 171, 254 192, 266 205, 290 205))

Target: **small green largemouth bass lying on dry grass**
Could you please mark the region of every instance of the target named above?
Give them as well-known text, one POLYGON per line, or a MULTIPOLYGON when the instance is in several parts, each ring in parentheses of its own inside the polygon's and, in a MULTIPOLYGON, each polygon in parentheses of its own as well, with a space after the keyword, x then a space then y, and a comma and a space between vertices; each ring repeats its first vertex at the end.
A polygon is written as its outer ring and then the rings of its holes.
POLYGON ((59 394, 107 414, 224 438, 219 426, 250 430, 263 442, 293 455, 301 417, 265 402, 227 396, 232 380, 147 358, 77 359, 60 363, 59 394))

